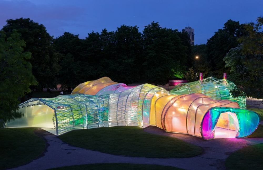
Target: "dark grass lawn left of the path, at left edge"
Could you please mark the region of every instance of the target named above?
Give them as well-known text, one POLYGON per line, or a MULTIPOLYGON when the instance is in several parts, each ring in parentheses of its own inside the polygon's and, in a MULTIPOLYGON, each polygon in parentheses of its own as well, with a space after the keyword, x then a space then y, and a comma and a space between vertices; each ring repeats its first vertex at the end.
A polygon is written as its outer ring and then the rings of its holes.
POLYGON ((38 157, 45 140, 33 128, 0 128, 0 169, 14 168, 38 157))

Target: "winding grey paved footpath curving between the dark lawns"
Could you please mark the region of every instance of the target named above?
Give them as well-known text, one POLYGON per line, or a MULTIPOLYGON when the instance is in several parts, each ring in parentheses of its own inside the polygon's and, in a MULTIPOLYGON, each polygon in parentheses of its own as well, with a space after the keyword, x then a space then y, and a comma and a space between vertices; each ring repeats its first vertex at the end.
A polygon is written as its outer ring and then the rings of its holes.
POLYGON ((190 158, 141 158, 117 156, 98 151, 83 150, 81 148, 69 146, 68 144, 63 144, 63 141, 58 139, 57 136, 42 129, 39 129, 38 131, 38 134, 41 134, 41 136, 47 140, 47 148, 45 152, 32 162, 17 168, 12 168, 12 170, 44 170, 92 163, 138 163, 173 166, 187 170, 226 170, 225 159, 232 152, 245 146, 263 143, 263 138, 228 138, 205 141, 191 135, 168 133, 160 128, 150 126, 145 128, 144 131, 182 139, 188 143, 200 146, 203 148, 203 152, 199 156, 190 158))

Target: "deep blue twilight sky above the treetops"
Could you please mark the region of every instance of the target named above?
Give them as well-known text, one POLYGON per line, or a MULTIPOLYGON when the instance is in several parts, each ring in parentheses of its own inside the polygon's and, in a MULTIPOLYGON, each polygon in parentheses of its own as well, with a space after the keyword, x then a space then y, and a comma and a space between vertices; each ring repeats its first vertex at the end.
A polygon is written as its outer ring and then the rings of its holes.
POLYGON ((205 44, 224 23, 256 22, 263 0, 0 0, 0 29, 7 19, 30 18, 54 37, 70 32, 85 38, 104 28, 139 27, 151 21, 181 31, 195 29, 195 44, 205 44))

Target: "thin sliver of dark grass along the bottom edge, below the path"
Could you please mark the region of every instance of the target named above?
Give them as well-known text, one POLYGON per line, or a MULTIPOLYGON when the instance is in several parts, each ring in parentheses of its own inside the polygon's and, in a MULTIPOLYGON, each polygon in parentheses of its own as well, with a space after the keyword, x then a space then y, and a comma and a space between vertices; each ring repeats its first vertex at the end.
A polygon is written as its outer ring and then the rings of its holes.
POLYGON ((88 165, 76 165, 76 166, 66 166, 60 168, 52 168, 48 170, 134 170, 134 169, 143 169, 143 170, 184 170, 181 168, 174 168, 170 166, 161 166, 161 165, 146 165, 146 164, 130 164, 130 163, 97 163, 97 164, 88 164, 88 165))

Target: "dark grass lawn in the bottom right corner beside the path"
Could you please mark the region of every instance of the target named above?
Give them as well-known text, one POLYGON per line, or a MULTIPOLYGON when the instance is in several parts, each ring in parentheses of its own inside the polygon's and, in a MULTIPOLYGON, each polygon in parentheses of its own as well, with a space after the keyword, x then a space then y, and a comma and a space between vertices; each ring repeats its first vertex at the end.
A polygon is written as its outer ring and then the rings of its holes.
POLYGON ((261 170, 263 167, 263 144, 247 146, 226 159, 227 170, 261 170))

